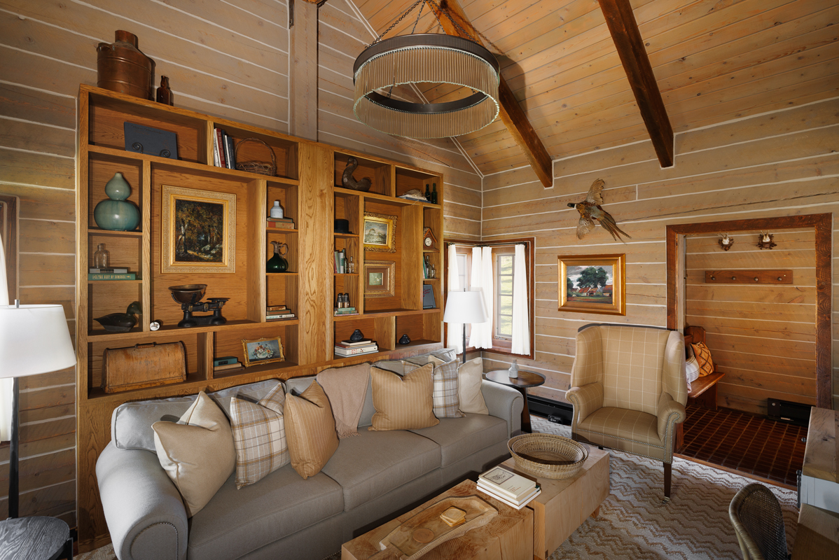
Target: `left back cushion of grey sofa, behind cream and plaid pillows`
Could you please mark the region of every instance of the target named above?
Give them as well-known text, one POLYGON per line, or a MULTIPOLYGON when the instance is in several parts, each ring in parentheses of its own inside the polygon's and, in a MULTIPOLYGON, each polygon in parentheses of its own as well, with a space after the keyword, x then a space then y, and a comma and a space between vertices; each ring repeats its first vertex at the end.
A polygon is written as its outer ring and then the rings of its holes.
MULTIPOLYGON (((209 393, 207 397, 224 410, 230 417, 230 397, 236 396, 245 401, 258 402, 279 383, 276 379, 259 381, 229 387, 209 393)), ((152 424, 159 420, 177 422, 186 409, 195 402, 196 395, 152 399, 151 401, 125 402, 118 406, 111 415, 111 438, 118 449, 146 449, 154 452, 154 430, 152 424)))

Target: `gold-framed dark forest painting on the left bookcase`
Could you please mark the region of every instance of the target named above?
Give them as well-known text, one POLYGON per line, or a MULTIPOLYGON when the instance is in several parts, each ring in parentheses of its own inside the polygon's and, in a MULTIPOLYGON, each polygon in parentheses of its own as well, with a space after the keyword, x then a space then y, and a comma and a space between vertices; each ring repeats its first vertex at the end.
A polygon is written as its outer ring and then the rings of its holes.
POLYGON ((164 184, 160 272, 236 272, 236 194, 164 184))

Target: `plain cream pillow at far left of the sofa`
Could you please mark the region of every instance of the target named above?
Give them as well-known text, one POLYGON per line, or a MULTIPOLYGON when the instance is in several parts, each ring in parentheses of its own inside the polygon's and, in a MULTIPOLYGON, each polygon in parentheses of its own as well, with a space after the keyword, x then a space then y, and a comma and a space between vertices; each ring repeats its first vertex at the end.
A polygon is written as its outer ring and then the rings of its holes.
POLYGON ((178 423, 155 422, 152 429, 160 465, 180 492, 186 516, 194 516, 236 467, 230 423, 201 391, 178 423))

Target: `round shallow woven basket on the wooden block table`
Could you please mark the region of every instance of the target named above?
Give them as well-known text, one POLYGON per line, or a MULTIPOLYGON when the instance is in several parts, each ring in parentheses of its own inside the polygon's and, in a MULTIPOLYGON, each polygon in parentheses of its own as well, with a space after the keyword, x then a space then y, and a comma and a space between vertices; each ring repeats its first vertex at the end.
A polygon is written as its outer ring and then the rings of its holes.
POLYGON ((588 450, 580 443, 553 433, 523 433, 510 439, 507 447, 519 469, 544 479, 571 478, 588 459, 588 450))

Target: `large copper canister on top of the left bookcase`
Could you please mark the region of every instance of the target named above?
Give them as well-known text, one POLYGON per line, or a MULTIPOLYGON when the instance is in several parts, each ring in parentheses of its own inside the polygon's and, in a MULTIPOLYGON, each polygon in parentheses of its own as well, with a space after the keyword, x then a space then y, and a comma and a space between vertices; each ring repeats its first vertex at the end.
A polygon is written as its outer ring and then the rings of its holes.
POLYGON ((154 100, 154 60, 137 48, 137 35, 117 31, 113 44, 96 47, 96 86, 154 100))

